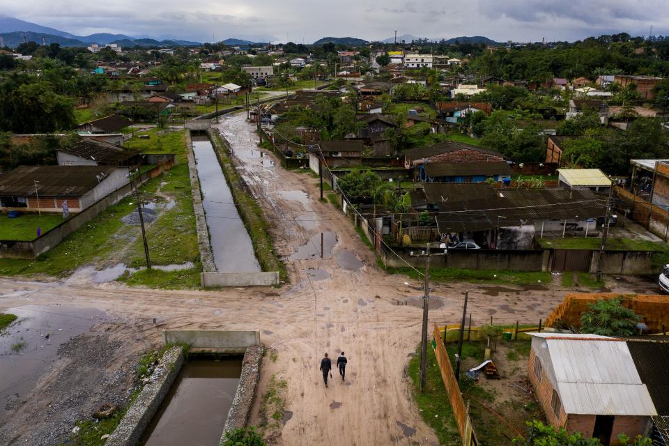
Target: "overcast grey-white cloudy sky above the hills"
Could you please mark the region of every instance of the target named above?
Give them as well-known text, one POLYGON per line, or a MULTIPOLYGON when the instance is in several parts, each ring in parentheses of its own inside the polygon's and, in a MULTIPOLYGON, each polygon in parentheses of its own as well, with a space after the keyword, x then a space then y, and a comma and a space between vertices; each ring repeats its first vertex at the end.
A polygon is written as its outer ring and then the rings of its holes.
POLYGON ((486 36, 578 40, 603 33, 669 34, 667 0, 0 0, 3 14, 77 35, 312 43, 486 36))

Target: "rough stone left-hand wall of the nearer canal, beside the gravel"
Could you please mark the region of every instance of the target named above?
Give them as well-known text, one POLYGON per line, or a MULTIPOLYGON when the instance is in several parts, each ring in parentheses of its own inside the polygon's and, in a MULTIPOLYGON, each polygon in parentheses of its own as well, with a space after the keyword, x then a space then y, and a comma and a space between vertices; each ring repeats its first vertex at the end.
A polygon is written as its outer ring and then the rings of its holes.
POLYGON ((160 403, 169 392, 169 388, 179 374, 186 360, 183 348, 170 348, 162 355, 160 364, 155 367, 151 379, 144 385, 139 397, 128 408, 123 420, 116 426, 112 436, 107 438, 105 446, 135 446, 141 434, 151 422, 160 403))

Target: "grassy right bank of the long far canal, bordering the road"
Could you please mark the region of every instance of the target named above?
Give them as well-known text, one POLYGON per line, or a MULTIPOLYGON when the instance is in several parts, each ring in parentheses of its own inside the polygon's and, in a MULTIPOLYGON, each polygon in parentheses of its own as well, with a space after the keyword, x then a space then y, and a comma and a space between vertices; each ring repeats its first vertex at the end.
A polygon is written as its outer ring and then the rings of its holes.
MULTIPOLYGON (((263 272, 273 272, 278 274, 279 281, 277 284, 287 282, 288 274, 286 272, 286 267, 279 257, 279 254, 277 254, 274 243, 272 243, 266 220, 263 218, 262 210, 258 203, 256 203, 248 185, 244 183, 244 180, 239 176, 231 160, 227 156, 227 154, 230 153, 228 142, 221 136, 217 129, 210 128, 207 130, 207 134, 230 187, 238 213, 240 217, 242 217, 244 226, 246 226, 247 232, 249 233, 256 259, 258 259, 263 272)), ((254 273, 254 275, 257 274, 258 273, 254 273)), ((210 280, 213 280, 214 276, 211 277, 212 279, 210 280)), ((252 280, 255 279, 257 279, 257 277, 252 278, 252 280)), ((203 284, 203 286, 205 285, 203 284)))

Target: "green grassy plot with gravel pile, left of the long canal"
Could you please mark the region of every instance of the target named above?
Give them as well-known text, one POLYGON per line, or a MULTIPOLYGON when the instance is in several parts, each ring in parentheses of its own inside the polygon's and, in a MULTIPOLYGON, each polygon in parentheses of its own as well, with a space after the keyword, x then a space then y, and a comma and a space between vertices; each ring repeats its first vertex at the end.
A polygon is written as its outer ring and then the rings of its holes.
MULTIPOLYGON (((164 210, 160 217, 146 226, 151 261, 169 265, 192 261, 194 268, 184 271, 138 272, 121 280, 134 285, 191 288, 199 284, 199 249, 195 217, 190 193, 183 130, 152 129, 150 139, 128 141, 128 146, 144 153, 175 153, 178 165, 140 187, 143 201, 164 203, 174 201, 174 207, 164 210)), ((134 196, 126 197, 104 210, 58 246, 36 260, 0 259, 0 275, 49 275, 63 277, 94 261, 118 259, 128 266, 144 263, 144 248, 138 226, 127 226, 121 218, 137 209, 134 196), (130 245, 128 245, 130 243, 130 245)))

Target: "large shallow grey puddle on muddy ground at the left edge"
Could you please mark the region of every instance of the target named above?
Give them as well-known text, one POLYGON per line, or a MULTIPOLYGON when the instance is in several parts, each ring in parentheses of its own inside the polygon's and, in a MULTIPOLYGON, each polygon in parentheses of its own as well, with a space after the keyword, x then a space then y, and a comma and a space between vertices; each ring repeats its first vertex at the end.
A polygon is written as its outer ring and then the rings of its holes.
POLYGON ((61 344, 107 321, 97 309, 26 305, 6 313, 18 318, 0 336, 0 424, 5 406, 25 399, 58 357, 61 344))

